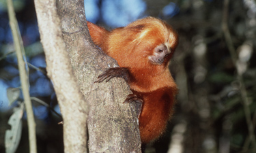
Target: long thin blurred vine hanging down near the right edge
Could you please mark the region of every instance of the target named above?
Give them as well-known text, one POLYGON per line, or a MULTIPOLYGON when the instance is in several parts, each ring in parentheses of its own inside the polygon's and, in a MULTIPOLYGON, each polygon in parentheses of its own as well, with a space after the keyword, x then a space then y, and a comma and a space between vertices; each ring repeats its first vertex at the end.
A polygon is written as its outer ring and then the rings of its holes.
MULTIPOLYGON (((227 47, 229 48, 229 53, 231 54, 233 65, 236 65, 236 62, 238 61, 238 56, 236 54, 236 49, 233 46, 233 42, 232 42, 231 35, 230 35, 230 32, 229 32, 229 28, 228 28, 228 25, 227 25, 228 10, 229 10, 229 0, 225 0, 224 4, 223 4, 222 29, 223 29, 225 41, 227 43, 227 47)), ((238 81, 241 83, 240 92, 241 92, 241 98, 242 98, 242 105, 244 107, 244 115, 245 115, 246 123, 247 123, 247 126, 248 126, 248 135, 249 135, 249 138, 251 140, 253 149, 255 149, 256 148, 256 140, 255 140, 255 135, 254 135, 254 131, 253 131, 253 122, 251 120, 251 111, 250 111, 250 108, 249 108, 249 101, 248 101, 248 97, 247 97, 247 91, 246 91, 246 87, 244 85, 244 80, 243 80, 243 77, 242 77, 242 73, 238 73, 238 67, 237 66, 236 66, 236 71, 237 71, 237 74, 238 74, 238 81)))

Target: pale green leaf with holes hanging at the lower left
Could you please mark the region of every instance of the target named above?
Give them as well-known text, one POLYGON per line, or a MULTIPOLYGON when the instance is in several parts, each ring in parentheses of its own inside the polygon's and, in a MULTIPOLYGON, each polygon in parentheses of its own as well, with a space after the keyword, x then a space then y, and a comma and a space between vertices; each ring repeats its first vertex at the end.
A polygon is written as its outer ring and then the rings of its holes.
POLYGON ((13 153, 16 152, 18 148, 18 143, 20 142, 21 130, 23 122, 21 118, 23 117, 24 103, 20 103, 20 107, 14 109, 14 114, 8 120, 11 129, 5 131, 5 152, 13 153))

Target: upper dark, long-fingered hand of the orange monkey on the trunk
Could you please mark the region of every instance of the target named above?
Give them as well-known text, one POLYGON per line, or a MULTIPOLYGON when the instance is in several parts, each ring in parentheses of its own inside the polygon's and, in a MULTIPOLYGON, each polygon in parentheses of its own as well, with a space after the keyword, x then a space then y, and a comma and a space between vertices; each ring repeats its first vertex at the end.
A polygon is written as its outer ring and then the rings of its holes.
MULTIPOLYGON (((126 82, 128 82, 129 79, 129 71, 125 67, 114 67, 107 69, 102 74, 98 76, 98 80, 96 82, 100 83, 106 80, 106 82, 109 82, 111 78, 118 77, 118 78, 124 78, 126 82)), ((94 82, 95 83, 95 82, 94 82)))

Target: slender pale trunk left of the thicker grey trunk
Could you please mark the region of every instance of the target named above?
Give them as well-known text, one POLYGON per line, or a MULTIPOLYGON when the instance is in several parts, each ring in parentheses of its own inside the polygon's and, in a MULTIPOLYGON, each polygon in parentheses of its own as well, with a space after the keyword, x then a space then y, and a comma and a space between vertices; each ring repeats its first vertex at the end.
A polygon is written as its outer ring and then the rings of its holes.
POLYGON ((88 106, 77 88, 65 42, 61 35, 56 1, 35 1, 40 37, 46 55, 47 72, 53 81, 61 114, 65 152, 87 152, 88 106))

